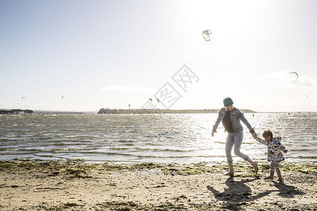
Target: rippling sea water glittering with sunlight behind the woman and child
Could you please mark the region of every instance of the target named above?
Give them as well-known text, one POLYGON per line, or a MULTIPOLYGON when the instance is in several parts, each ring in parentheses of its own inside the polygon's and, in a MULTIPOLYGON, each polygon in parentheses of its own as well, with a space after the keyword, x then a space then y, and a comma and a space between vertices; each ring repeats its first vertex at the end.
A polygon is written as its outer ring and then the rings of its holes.
MULTIPOLYGON (((285 160, 317 157, 317 113, 246 113, 258 134, 272 129, 285 160)), ((0 115, 0 160, 83 159, 85 162, 225 162, 227 134, 218 114, 0 115)), ((244 124, 242 124, 244 126, 244 124)), ((244 126, 241 151, 266 160, 266 146, 244 126)), ((232 152, 233 155, 233 152, 232 152)), ((242 160, 235 156, 234 161, 242 160)))

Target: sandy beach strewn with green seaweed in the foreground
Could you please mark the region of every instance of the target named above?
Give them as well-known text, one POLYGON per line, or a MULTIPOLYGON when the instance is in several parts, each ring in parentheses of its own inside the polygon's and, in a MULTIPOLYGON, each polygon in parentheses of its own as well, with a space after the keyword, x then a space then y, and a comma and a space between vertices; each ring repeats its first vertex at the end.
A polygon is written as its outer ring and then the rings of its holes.
POLYGON ((268 167, 1 161, 0 210, 317 210, 317 162, 283 162, 283 181, 268 167))

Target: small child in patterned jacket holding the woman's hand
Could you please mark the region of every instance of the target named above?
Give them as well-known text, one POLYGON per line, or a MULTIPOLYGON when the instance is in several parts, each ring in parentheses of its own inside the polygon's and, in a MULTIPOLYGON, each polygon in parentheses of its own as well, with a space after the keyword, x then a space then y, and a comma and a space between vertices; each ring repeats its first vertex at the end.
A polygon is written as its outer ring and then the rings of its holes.
POLYGON ((282 181, 282 175, 280 174, 278 166, 282 160, 285 160, 282 151, 287 153, 287 149, 282 145, 282 143, 280 143, 280 137, 273 138, 273 132, 270 129, 264 131, 262 136, 264 139, 261 139, 258 136, 256 141, 268 146, 268 161, 271 161, 271 173, 270 176, 265 179, 273 179, 275 170, 276 174, 278 174, 278 181, 282 181))

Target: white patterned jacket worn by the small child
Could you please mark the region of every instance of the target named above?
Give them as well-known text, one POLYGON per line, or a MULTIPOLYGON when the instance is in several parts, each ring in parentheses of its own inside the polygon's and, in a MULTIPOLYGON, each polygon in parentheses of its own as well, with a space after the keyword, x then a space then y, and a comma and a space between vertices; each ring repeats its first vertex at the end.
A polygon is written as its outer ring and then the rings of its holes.
POLYGON ((260 137, 256 138, 256 141, 268 146, 268 161, 280 162, 285 160, 282 151, 285 151, 286 148, 282 145, 282 143, 280 143, 280 140, 280 137, 275 137, 272 141, 267 142, 265 139, 261 139, 260 137))

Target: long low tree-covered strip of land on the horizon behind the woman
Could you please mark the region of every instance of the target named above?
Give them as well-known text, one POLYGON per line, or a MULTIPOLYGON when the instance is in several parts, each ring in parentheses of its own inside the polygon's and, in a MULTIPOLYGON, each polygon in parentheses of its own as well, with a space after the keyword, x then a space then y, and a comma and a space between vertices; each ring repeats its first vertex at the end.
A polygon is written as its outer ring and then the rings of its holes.
MULTIPOLYGON (((256 113, 249 109, 240 109, 243 113, 256 113)), ((98 114, 148 114, 148 113, 218 113, 219 109, 201 109, 201 110, 169 110, 169 109, 109 109, 101 108, 98 114)))

